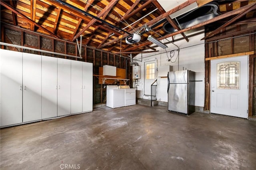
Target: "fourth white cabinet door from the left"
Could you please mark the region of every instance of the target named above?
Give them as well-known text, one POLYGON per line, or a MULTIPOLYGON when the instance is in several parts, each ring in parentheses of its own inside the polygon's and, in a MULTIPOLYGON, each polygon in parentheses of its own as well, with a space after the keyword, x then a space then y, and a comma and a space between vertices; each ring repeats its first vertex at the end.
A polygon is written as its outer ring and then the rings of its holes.
POLYGON ((70 115, 71 60, 58 58, 58 116, 70 115))

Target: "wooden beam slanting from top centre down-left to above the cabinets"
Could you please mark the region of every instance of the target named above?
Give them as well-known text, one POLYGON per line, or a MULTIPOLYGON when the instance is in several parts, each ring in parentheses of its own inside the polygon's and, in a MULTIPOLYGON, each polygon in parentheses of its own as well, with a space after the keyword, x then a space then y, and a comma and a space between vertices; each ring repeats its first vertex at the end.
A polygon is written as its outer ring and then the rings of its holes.
MULTIPOLYGON (((112 7, 118 2, 118 0, 112 0, 110 3, 97 15, 98 18, 102 17, 104 14, 108 14, 108 12, 112 9, 112 7)), ((85 30, 90 28, 97 20, 93 18, 71 41, 76 40, 85 30)), ((95 29, 94 29, 95 30, 95 29)))

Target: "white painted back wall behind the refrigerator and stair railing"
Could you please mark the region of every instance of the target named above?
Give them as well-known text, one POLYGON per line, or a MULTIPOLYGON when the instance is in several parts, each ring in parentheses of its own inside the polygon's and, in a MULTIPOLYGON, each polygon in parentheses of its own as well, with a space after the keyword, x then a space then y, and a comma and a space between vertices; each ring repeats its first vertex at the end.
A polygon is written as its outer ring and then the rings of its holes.
MULTIPOLYGON (((154 53, 145 53, 145 54, 139 54, 134 59, 137 59, 136 62, 141 65, 141 79, 139 79, 139 83, 136 86, 138 90, 138 98, 140 99, 150 99, 149 96, 144 95, 144 62, 146 61, 153 61, 155 60, 157 63, 157 67, 165 66, 165 65, 172 65, 173 71, 177 70, 191 70, 196 72, 196 80, 201 80, 199 82, 196 82, 196 96, 195 96, 195 105, 199 107, 204 107, 204 40, 201 40, 204 37, 204 29, 200 28, 197 30, 193 30, 193 32, 185 32, 186 36, 195 35, 192 37, 189 37, 189 42, 186 42, 186 40, 179 40, 174 41, 176 45, 180 47, 180 53, 179 53, 179 59, 175 61, 176 56, 178 54, 178 51, 175 51, 174 57, 171 61, 166 61, 168 58, 167 55, 170 58, 170 51, 178 49, 175 45, 172 43, 168 44, 168 48, 162 49, 160 47, 155 47, 154 44, 152 44, 152 47, 154 46, 158 52, 154 53), (197 34, 197 35, 195 35, 197 34), (178 64, 179 63, 179 64, 178 64)), ((177 35, 174 37, 174 40, 178 40, 182 38, 181 35, 177 35)), ((171 38, 168 39, 171 41, 171 38)), ((166 42, 167 40, 162 40, 162 42, 166 42)), ((151 50, 149 50, 151 51, 151 50)), ((159 74, 159 73, 158 73, 159 74)), ((161 73, 167 76, 166 73, 161 73)), ((168 94, 167 94, 167 78, 166 77, 156 77, 157 79, 157 100, 158 101, 164 101, 168 102, 168 94)), ((146 86, 150 86, 150 84, 145 84, 146 86)))

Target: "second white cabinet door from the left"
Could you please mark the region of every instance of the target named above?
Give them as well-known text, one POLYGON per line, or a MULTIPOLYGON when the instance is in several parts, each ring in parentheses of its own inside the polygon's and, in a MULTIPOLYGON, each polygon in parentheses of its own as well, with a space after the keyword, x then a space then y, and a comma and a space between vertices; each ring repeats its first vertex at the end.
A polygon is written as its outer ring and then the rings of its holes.
POLYGON ((23 122, 41 119, 41 55, 23 53, 23 122))

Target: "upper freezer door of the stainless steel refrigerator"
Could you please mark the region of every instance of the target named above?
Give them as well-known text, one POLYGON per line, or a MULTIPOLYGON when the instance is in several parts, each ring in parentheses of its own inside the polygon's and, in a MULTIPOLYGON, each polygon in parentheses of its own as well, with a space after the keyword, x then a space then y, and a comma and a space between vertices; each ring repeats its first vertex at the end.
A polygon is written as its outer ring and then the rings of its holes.
POLYGON ((188 83, 188 70, 170 71, 168 78, 170 83, 188 83))

